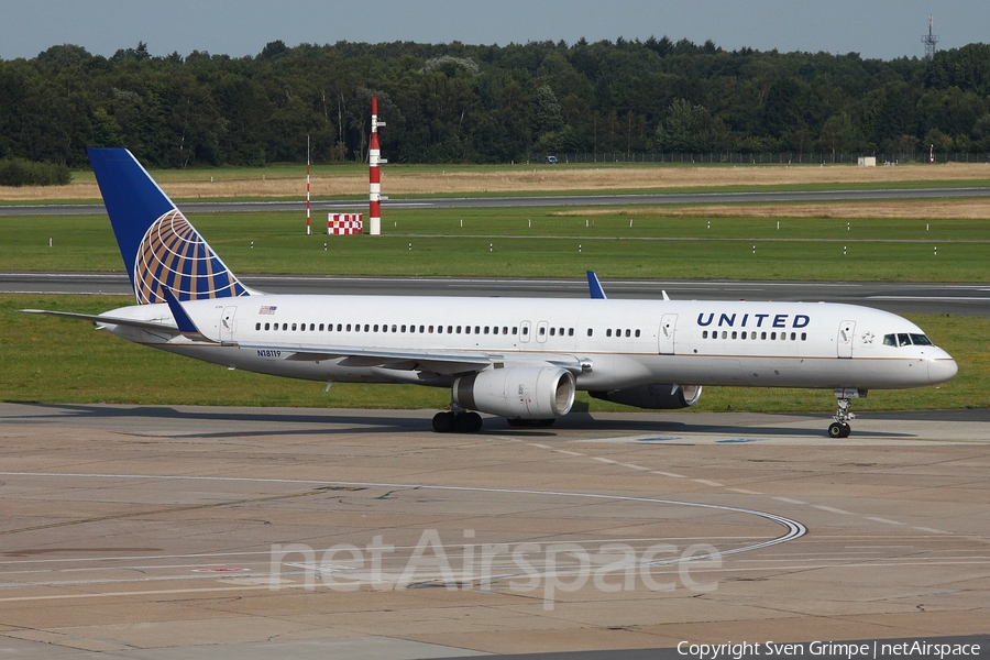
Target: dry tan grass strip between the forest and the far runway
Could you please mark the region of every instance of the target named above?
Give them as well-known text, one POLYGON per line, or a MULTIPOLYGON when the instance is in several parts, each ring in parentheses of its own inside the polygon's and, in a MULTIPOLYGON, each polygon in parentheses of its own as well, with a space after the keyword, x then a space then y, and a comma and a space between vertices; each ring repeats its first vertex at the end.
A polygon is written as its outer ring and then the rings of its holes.
MULTIPOLYGON (((176 201, 184 199, 300 199, 306 167, 223 167, 154 170, 152 175, 176 201)), ((312 168, 316 199, 367 197, 367 166, 312 168)), ((646 193, 693 190, 828 189, 990 186, 990 164, 948 163, 857 167, 855 165, 690 165, 598 163, 571 165, 386 165, 382 190, 392 196, 513 195, 542 193, 646 193)), ((74 173, 68 186, 0 187, 0 201, 97 201, 91 172, 74 173)))

